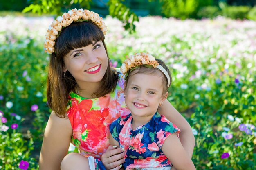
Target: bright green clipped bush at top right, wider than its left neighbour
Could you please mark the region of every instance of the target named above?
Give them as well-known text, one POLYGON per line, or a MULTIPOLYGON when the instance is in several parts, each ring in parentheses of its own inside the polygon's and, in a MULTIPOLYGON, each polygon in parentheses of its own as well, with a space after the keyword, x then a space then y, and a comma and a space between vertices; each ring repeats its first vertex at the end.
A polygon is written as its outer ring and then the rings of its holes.
POLYGON ((232 19, 246 19, 249 11, 247 6, 227 6, 222 9, 222 15, 232 19))

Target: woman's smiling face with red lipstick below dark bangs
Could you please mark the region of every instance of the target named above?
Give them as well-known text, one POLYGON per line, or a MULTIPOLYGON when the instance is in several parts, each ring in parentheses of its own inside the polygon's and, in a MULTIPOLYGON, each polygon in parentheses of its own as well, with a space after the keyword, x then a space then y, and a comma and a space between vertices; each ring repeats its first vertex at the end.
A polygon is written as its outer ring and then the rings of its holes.
POLYGON ((108 56, 101 41, 71 50, 64 57, 63 71, 68 70, 76 82, 98 83, 108 67, 108 56))

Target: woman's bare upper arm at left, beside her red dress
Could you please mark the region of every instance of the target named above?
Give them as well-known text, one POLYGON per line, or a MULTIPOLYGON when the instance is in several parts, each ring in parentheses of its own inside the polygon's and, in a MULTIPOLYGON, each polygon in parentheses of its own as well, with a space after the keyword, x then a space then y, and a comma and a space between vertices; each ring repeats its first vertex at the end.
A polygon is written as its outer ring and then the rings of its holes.
POLYGON ((40 170, 60 170, 72 136, 69 119, 59 118, 52 111, 47 122, 39 159, 40 170))

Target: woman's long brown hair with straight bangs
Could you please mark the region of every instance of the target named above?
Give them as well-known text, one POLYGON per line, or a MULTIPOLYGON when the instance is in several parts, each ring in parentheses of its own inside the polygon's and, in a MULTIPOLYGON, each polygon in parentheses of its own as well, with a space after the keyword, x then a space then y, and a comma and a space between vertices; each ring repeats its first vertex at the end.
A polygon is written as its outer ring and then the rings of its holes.
MULTIPOLYGON (((104 48, 108 51, 104 42, 104 34, 101 29, 91 22, 74 22, 64 28, 56 40, 56 51, 50 54, 49 72, 47 78, 47 101, 49 107, 58 115, 63 117, 66 113, 68 96, 71 91, 75 92, 76 80, 67 71, 63 73, 63 57, 75 48, 82 48, 93 42, 102 41, 104 48)), ((99 89, 93 95, 97 97, 105 96, 112 92, 118 81, 117 72, 110 68, 108 57, 108 67, 101 80, 99 89)))

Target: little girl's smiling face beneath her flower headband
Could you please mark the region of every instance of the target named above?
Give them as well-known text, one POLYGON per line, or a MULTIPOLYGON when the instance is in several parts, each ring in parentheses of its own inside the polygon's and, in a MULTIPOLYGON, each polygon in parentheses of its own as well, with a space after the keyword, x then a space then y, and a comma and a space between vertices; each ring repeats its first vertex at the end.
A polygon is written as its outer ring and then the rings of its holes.
POLYGON ((127 82, 125 102, 132 116, 150 117, 164 102, 167 94, 163 95, 161 77, 139 73, 130 76, 127 82))

